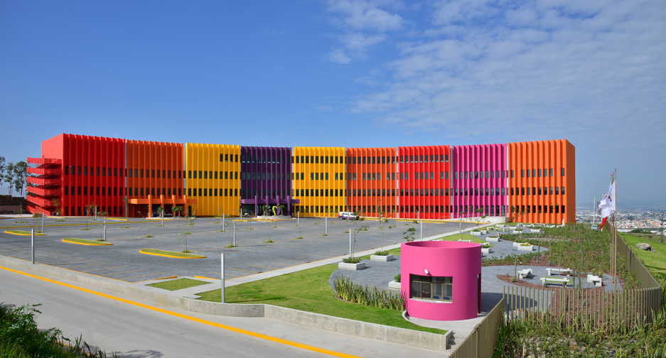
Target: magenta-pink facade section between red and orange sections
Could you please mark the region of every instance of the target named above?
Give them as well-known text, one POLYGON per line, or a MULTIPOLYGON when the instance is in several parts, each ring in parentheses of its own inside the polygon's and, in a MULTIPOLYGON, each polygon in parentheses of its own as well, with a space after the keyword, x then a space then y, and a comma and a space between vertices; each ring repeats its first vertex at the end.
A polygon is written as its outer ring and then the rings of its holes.
POLYGON ((507 146, 451 147, 451 217, 507 215, 507 146))

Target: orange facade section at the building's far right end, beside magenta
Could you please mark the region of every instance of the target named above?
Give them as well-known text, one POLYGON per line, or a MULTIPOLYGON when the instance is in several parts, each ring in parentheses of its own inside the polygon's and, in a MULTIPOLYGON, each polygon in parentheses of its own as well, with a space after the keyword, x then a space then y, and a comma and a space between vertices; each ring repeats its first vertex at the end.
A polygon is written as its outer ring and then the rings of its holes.
POLYGON ((513 221, 576 221, 576 149, 566 139, 507 144, 513 221))

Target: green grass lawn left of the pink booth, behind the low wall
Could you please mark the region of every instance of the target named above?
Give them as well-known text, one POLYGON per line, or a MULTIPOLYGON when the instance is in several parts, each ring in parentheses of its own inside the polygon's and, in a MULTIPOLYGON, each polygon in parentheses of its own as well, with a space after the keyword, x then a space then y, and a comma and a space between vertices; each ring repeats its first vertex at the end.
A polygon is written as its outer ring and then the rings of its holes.
MULTIPOLYGON (((338 268, 325 265, 225 288, 227 303, 265 303, 350 320, 444 334, 444 330, 407 322, 402 312, 348 303, 333 297, 328 277, 338 268)), ((197 293, 200 300, 220 302, 220 290, 197 293)))

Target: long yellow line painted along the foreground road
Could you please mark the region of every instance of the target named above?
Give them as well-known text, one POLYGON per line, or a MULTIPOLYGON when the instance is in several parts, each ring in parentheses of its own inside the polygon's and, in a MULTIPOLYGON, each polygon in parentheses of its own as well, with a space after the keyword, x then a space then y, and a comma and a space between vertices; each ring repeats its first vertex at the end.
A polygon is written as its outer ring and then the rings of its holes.
POLYGON ((154 310, 155 312, 163 313, 165 315, 171 315, 173 317, 182 318, 184 320, 190 320, 192 322, 203 323, 204 325, 210 325, 210 326, 213 326, 213 327, 222 328, 223 330, 230 330, 232 332, 237 332, 237 333, 240 333, 242 335, 249 335, 250 337, 259 338, 259 339, 262 339, 262 340, 269 340, 269 341, 272 341, 272 342, 281 343, 283 345, 290 345, 291 347, 298 347, 298 348, 310 350, 312 352, 328 354, 328 355, 331 355, 333 357, 359 358, 358 356, 353 356, 351 354, 335 352, 335 351, 332 351, 332 350, 323 349, 323 348, 319 348, 319 347, 314 347, 314 346, 311 346, 311 345, 304 345, 303 343, 299 343, 299 342, 284 340, 282 338, 272 337, 272 336, 269 336, 269 335, 264 335, 262 333, 252 332, 252 331, 249 331, 249 330, 243 330, 242 328, 232 327, 230 325, 222 325, 221 323, 217 323, 217 322, 213 322, 213 321, 209 321, 209 320, 203 320, 202 318, 195 318, 195 317, 192 317, 192 316, 189 316, 189 315, 183 315, 182 313, 176 313, 176 312, 173 312, 173 311, 170 311, 170 310, 165 310, 163 308, 157 308, 157 307, 154 307, 154 306, 151 306, 151 305, 146 305, 144 303, 138 303, 138 302, 134 302, 134 301, 131 301, 131 300, 126 300, 124 298, 119 298, 119 297, 114 296, 114 295, 108 295, 106 293, 92 291, 92 290, 89 290, 87 288, 82 288, 82 287, 79 287, 79 286, 70 285, 69 283, 63 283, 63 282, 51 280, 50 278, 36 276, 36 275, 31 274, 31 273, 17 271, 17 270, 11 269, 11 268, 3 267, 3 266, 0 266, 0 268, 4 269, 6 271, 18 273, 19 275, 28 276, 28 277, 31 277, 31 278, 37 278, 38 280, 46 281, 48 283, 55 283, 56 285, 65 286, 67 288, 73 288, 73 289, 78 290, 78 291, 82 291, 82 292, 85 292, 85 293, 90 293, 92 295, 98 295, 98 296, 104 297, 104 298, 109 298, 109 300, 117 300, 117 301, 122 302, 122 303, 127 303, 128 305, 134 305, 136 307, 146 308, 147 310, 154 310))

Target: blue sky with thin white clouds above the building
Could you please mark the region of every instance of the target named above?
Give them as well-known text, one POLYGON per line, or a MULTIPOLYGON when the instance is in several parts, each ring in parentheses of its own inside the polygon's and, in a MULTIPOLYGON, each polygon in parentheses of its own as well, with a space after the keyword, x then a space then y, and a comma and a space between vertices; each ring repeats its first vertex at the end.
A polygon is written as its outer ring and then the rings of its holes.
MULTIPOLYGON (((569 139, 579 205, 666 203, 666 2, 1 1, 0 156, 569 139)), ((0 192, 6 192, 5 188, 0 192)))

